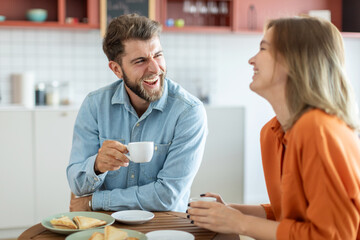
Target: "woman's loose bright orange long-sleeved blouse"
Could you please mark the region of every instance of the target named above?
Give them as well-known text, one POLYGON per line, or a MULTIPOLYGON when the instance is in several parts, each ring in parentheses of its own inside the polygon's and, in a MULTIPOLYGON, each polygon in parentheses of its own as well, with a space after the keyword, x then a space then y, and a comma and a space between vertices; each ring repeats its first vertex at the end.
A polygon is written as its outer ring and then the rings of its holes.
POLYGON ((360 239, 360 141, 336 116, 303 114, 283 132, 261 130, 261 154, 277 239, 360 239))

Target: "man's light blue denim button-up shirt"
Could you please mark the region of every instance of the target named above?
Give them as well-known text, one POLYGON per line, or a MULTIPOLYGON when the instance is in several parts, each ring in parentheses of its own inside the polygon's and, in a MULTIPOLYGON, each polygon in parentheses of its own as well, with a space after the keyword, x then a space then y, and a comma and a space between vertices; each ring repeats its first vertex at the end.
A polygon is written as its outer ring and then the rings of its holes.
POLYGON ((71 191, 93 193, 94 210, 185 211, 207 131, 203 104, 169 79, 163 96, 140 118, 123 80, 91 92, 75 122, 67 167, 71 191), (153 141, 153 158, 96 175, 94 162, 105 140, 153 141))

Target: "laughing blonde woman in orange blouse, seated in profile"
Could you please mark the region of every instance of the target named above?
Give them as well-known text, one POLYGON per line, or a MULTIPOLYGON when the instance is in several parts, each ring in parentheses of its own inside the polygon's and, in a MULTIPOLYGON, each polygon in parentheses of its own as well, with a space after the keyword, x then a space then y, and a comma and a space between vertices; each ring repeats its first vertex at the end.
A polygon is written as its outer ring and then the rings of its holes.
POLYGON ((261 130, 269 205, 192 202, 192 223, 256 239, 360 239, 357 106, 344 73, 342 37, 317 18, 272 20, 250 89, 276 117, 261 130))

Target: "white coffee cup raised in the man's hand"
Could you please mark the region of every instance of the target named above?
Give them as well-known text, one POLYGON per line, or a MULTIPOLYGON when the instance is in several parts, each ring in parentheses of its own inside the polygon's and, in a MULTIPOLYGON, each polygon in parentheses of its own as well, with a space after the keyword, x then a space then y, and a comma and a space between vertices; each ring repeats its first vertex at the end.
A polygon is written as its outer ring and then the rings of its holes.
POLYGON ((150 162, 154 154, 154 142, 131 142, 126 147, 126 157, 135 163, 150 162))

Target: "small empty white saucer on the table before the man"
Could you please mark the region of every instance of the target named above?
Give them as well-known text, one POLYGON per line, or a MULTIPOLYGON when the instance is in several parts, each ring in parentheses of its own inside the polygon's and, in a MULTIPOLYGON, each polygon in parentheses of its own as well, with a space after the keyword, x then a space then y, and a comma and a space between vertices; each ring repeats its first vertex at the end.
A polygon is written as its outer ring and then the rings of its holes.
POLYGON ((125 210, 111 214, 116 221, 126 224, 141 224, 154 218, 152 212, 143 210, 125 210))

